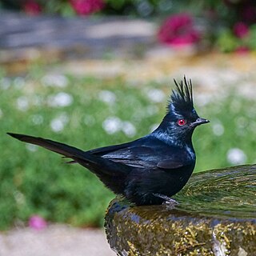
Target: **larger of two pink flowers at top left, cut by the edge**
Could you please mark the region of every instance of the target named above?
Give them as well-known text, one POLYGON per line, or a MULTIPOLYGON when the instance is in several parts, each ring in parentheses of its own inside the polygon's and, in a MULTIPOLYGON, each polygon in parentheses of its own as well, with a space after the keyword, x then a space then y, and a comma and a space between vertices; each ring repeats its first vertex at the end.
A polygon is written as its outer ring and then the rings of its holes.
POLYGON ((79 15, 92 14, 105 6, 102 0, 70 0, 70 4, 79 15))

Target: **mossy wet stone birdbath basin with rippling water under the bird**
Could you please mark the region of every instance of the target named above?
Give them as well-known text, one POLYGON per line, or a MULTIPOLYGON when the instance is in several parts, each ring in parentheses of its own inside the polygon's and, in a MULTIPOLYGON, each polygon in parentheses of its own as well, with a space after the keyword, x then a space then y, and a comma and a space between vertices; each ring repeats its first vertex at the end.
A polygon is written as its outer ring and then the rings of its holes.
POLYGON ((256 165, 194 174, 178 205, 106 211, 106 237, 118 255, 256 255, 256 165))

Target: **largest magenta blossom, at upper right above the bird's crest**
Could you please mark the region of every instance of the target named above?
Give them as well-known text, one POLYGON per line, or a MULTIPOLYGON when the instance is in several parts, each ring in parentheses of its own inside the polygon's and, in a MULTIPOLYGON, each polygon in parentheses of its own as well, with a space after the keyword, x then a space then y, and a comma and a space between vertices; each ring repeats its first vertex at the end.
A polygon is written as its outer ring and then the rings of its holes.
POLYGON ((175 14, 163 22, 158 31, 158 39, 172 46, 187 46, 198 42, 200 33, 195 29, 190 14, 175 14))

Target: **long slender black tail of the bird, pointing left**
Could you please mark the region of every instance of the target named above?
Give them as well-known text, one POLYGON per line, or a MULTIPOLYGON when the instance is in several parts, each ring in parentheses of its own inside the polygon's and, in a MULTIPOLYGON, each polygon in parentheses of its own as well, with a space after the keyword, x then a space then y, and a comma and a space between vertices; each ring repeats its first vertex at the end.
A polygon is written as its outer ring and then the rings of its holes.
POLYGON ((64 143, 54 142, 46 138, 38 138, 25 134, 13 134, 7 133, 10 136, 17 138, 22 142, 27 142, 30 144, 42 146, 47 150, 54 151, 58 154, 62 154, 67 158, 74 159, 75 162, 78 162, 82 166, 85 166, 89 170, 93 171, 98 176, 102 174, 115 176, 121 174, 124 170, 124 166, 118 163, 114 163, 106 158, 101 158, 94 154, 90 154, 83 150, 79 150, 74 146, 69 146, 64 143), (113 164, 114 163, 114 164, 113 164), (116 170, 116 171, 115 171, 116 170))

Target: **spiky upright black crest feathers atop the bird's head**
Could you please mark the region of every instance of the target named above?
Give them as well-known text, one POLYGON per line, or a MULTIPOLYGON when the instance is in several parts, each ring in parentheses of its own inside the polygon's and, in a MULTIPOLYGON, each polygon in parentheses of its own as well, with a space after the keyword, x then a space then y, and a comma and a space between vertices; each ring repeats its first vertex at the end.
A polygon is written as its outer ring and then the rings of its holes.
POLYGON ((180 83, 174 79, 174 83, 176 88, 172 90, 167 109, 171 111, 174 106, 174 110, 177 112, 193 111, 194 106, 191 79, 187 80, 186 77, 184 77, 183 81, 180 83))

